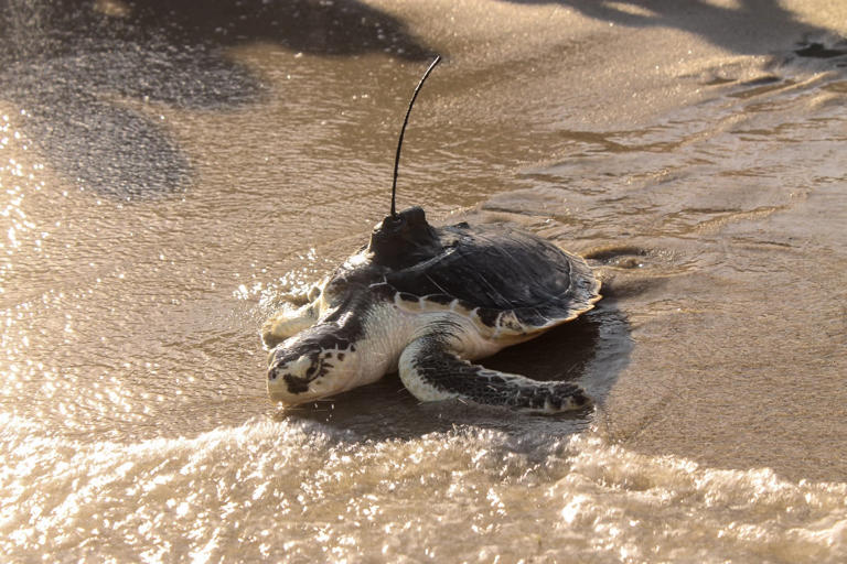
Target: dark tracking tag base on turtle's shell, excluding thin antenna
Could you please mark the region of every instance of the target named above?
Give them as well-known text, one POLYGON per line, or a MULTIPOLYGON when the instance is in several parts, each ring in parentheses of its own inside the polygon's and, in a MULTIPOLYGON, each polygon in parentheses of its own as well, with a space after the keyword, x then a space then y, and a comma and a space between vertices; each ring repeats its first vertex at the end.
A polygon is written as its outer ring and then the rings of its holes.
POLYGON ((442 247, 424 209, 415 206, 376 224, 367 250, 377 264, 403 269, 436 257, 442 247))

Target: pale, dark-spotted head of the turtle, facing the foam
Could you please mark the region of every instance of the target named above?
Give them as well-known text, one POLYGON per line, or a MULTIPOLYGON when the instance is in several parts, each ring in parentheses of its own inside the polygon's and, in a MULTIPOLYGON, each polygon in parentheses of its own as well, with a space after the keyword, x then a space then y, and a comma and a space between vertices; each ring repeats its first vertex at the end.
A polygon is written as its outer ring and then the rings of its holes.
POLYGON ((268 395, 296 405, 358 386, 356 347, 339 327, 318 325, 280 343, 268 357, 268 395))

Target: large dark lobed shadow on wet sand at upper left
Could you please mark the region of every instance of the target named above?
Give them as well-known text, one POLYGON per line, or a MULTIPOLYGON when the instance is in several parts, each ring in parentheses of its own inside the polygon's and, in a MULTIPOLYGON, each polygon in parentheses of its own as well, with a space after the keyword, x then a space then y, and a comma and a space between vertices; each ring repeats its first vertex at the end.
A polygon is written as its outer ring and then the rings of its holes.
POLYGON ((121 198, 180 191, 191 167, 168 132, 120 97, 226 109, 262 95, 224 47, 427 56, 401 22, 355 1, 2 0, 0 30, 0 99, 25 111, 26 138, 71 182, 121 198))

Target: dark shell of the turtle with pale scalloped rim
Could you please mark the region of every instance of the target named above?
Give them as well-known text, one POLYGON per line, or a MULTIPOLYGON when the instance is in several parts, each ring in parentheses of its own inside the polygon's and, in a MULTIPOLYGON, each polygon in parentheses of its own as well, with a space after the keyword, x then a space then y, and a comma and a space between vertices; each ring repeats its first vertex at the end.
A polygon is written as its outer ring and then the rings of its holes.
POLYGON ((500 225, 428 228, 417 246, 427 252, 372 285, 405 310, 455 311, 496 337, 547 329, 600 300, 586 261, 540 237, 500 225))

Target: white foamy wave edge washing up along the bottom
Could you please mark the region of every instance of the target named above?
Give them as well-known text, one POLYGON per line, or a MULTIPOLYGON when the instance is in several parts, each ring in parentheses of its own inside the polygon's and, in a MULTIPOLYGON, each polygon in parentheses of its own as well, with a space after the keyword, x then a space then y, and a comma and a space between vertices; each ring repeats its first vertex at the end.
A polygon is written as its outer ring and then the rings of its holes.
POLYGON ((250 421, 84 444, 4 417, 13 561, 843 562, 847 484, 457 427, 358 442, 250 421), (40 435, 41 433, 41 435, 40 435))

